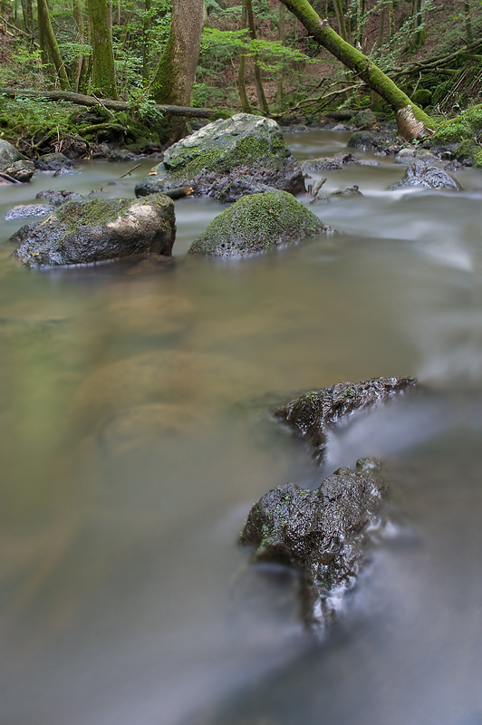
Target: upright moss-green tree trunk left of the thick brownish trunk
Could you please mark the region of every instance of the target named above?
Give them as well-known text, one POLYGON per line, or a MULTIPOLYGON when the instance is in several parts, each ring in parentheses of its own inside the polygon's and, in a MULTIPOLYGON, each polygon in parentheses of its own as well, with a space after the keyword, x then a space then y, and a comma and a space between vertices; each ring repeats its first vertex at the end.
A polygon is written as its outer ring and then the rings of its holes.
POLYGON ((91 26, 92 88, 107 98, 117 98, 111 13, 107 0, 87 0, 91 26))

